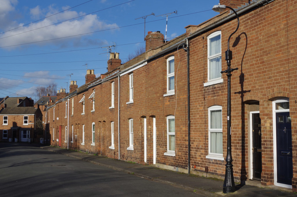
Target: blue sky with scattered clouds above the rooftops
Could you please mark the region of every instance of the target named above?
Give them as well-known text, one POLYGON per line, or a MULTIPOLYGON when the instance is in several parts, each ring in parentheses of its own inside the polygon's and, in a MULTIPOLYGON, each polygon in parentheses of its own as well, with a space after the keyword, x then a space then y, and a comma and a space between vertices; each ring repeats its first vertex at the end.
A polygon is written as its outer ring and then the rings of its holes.
POLYGON ((107 72, 107 46, 126 62, 144 43, 148 31, 167 39, 185 33, 217 15, 219 0, 0 0, 0 97, 27 96, 37 101, 35 89, 56 83, 69 91, 69 74, 78 86, 86 69, 98 77, 107 72), (70 9, 71 8, 71 9, 70 9), (66 11, 64 11, 66 10, 66 11), (60 13, 59 13, 60 12, 60 13), (84 15, 84 16, 83 16, 84 15), (135 20, 136 18, 140 18, 135 20), (87 64, 87 65, 86 65, 87 64))

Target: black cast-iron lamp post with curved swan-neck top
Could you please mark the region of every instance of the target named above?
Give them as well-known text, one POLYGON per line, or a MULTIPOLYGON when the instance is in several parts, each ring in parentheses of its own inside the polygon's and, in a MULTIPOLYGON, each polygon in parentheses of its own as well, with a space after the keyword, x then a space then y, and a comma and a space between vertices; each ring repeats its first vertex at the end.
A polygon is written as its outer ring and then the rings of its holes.
POLYGON ((237 28, 236 30, 230 34, 228 39, 228 49, 225 51, 225 60, 227 61, 227 70, 221 71, 221 73, 227 73, 228 77, 228 101, 227 101, 227 155, 226 155, 226 171, 225 171, 225 179, 223 185, 223 193, 230 193, 235 191, 235 184, 234 184, 234 176, 233 176, 233 164, 232 164, 232 155, 231 155, 231 73, 234 70, 238 70, 238 68, 231 68, 231 60, 232 60, 232 51, 229 48, 230 38, 235 32, 238 30, 239 27, 239 17, 236 11, 229 6, 225 5, 214 5, 212 10, 215 12, 221 12, 229 8, 232 10, 237 18, 237 28))

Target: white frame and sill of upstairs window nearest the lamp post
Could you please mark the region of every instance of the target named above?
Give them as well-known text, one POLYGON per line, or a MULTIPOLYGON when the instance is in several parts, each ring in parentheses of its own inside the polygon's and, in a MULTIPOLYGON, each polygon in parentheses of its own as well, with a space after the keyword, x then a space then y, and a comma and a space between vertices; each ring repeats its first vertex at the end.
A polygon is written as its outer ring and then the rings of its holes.
POLYGON ((212 59, 215 59, 218 57, 221 57, 221 68, 219 70, 219 72, 221 72, 221 70, 222 70, 222 36, 221 36, 221 31, 216 31, 207 37, 207 59, 208 59, 207 65, 208 66, 207 66, 207 82, 203 84, 204 86, 211 86, 211 85, 214 85, 217 83, 223 83, 222 74, 220 74, 220 76, 218 78, 210 79, 210 61, 212 59), (216 54, 213 54, 210 56, 209 55, 210 54, 210 40, 217 36, 221 37, 221 39, 220 39, 221 50, 219 53, 216 53, 216 54))

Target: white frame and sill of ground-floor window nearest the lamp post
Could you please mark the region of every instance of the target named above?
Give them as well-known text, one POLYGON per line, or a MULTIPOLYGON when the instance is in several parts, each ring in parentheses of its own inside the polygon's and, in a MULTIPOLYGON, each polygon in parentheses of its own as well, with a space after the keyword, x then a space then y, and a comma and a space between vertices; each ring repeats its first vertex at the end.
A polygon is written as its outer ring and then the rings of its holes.
MULTIPOLYGON (((211 111, 217 111, 220 110, 222 113, 222 106, 220 105, 214 105, 208 108, 208 155, 206 155, 206 158, 208 159, 216 159, 216 160, 224 160, 223 153, 213 153, 211 152, 211 133, 223 133, 222 129, 222 118, 221 118, 221 128, 213 129, 211 128, 211 111)), ((221 115, 222 117, 222 115, 221 115)), ((223 144, 223 142, 222 142, 223 144)))

